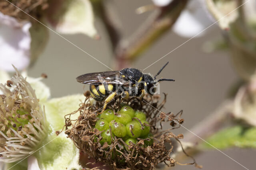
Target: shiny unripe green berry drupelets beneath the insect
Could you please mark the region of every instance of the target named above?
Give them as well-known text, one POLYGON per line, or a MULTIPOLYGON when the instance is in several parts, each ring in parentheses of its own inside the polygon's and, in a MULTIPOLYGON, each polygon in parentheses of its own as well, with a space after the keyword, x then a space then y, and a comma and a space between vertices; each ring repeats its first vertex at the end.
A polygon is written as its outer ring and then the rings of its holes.
POLYGON ((136 138, 149 138, 150 141, 144 141, 145 146, 153 144, 153 135, 150 133, 150 126, 146 121, 146 114, 142 111, 135 111, 130 106, 123 106, 116 113, 111 109, 106 109, 97 117, 99 120, 96 122, 95 128, 102 131, 101 145, 105 142, 110 145, 114 136, 122 138, 127 145, 136 144, 138 142, 136 138))

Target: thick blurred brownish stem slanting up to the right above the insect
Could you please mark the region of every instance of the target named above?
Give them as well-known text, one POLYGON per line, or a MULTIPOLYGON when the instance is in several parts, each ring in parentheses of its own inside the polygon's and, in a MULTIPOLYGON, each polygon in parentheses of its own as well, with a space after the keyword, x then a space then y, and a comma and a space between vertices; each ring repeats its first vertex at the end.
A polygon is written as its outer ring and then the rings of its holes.
POLYGON ((116 57, 124 60, 138 57, 172 27, 187 2, 188 0, 173 0, 168 6, 158 7, 131 38, 120 41, 115 51, 116 57))

